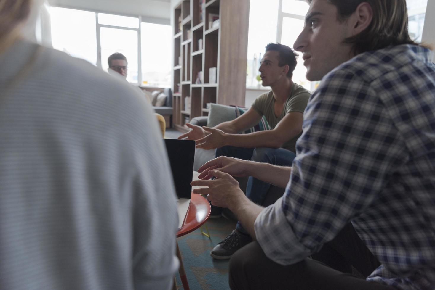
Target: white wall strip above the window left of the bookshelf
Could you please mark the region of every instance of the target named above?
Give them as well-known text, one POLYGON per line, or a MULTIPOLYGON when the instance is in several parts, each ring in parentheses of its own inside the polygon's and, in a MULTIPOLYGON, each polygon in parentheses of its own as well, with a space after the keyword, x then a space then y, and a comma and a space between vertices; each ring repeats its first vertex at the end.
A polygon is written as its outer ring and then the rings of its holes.
POLYGON ((144 16, 142 19, 144 21, 161 24, 169 24, 171 15, 169 0, 49 0, 48 2, 52 6, 132 16, 141 15, 144 16))

